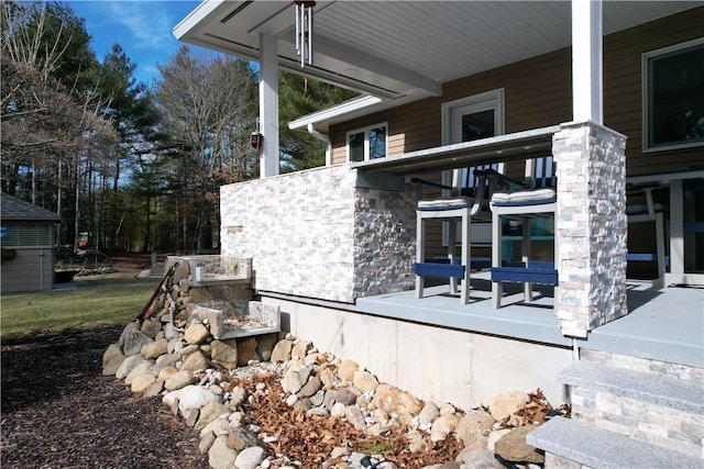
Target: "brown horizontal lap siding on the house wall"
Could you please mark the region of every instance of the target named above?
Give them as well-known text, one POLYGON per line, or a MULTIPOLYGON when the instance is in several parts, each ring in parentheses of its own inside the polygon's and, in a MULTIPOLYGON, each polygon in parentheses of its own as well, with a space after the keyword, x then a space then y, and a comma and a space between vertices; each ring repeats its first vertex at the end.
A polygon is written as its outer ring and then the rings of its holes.
MULTIPOLYGON (((604 40, 604 124, 625 134, 629 174, 671 170, 701 164, 702 148, 667 153, 641 152, 640 60, 647 51, 701 36, 704 8, 612 34, 604 40)), ((454 80, 443 86, 443 96, 429 98, 331 129, 333 163, 344 163, 348 131, 388 122, 388 153, 398 155, 441 144, 443 102, 504 88, 506 133, 519 132, 572 120, 571 48, 454 80)), ((507 167, 510 177, 522 178, 522 165, 507 167)), ((440 174, 415 175, 439 181, 440 174)), ((424 197, 438 197, 426 189, 424 197)), ((442 254, 439 226, 428 230, 428 254, 442 254)))

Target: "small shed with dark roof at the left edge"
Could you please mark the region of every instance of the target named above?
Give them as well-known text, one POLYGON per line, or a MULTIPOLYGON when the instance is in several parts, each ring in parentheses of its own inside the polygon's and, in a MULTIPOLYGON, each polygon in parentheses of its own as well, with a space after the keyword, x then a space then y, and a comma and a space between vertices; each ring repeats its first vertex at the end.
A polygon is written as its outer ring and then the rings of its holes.
POLYGON ((53 289, 55 225, 61 216, 4 192, 0 194, 0 291, 53 289))

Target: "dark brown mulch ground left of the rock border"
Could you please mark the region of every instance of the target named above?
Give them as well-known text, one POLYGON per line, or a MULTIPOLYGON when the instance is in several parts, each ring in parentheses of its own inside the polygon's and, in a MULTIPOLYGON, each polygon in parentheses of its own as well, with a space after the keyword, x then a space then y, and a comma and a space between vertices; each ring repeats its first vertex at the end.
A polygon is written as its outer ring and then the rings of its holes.
POLYGON ((123 326, 2 340, 3 468, 208 468, 160 398, 101 375, 123 326))

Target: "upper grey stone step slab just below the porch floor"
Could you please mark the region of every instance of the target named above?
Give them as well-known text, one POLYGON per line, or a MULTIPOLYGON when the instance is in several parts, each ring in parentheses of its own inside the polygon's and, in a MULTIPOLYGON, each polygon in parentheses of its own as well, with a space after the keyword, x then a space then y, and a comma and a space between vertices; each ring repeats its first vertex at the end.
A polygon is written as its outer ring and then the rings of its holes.
POLYGON ((615 368, 596 361, 575 361, 557 375, 558 381, 584 389, 704 414, 704 384, 651 372, 615 368))

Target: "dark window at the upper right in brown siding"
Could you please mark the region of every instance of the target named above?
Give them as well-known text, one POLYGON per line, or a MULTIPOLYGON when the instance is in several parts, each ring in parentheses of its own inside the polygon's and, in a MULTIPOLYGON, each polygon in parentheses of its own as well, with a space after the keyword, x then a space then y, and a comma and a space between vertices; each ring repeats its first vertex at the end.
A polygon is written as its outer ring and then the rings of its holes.
POLYGON ((704 37, 642 55, 644 152, 704 146, 704 37))

